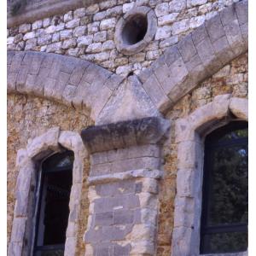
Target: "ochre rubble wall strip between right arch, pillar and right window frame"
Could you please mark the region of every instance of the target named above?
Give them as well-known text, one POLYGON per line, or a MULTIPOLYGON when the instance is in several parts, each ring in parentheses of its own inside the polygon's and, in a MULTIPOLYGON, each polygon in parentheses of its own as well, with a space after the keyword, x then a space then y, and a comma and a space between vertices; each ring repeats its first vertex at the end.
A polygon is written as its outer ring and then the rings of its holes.
POLYGON ((170 256, 174 198, 176 195, 176 175, 177 175, 177 143, 175 143, 175 120, 184 118, 195 109, 212 102, 214 96, 231 94, 236 97, 247 98, 247 54, 241 55, 229 65, 223 67, 212 78, 203 83, 184 96, 166 114, 168 119, 172 119, 172 128, 169 140, 164 147, 164 170, 165 177, 160 183, 160 214, 158 231, 157 255, 170 256))

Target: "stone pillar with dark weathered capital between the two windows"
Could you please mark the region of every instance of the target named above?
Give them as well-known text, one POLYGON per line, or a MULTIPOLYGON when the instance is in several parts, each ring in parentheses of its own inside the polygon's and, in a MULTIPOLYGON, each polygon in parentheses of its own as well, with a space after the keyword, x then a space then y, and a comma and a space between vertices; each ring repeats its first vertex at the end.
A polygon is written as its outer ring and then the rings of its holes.
POLYGON ((86 256, 155 255, 161 144, 170 121, 144 118, 82 131, 90 152, 86 256))

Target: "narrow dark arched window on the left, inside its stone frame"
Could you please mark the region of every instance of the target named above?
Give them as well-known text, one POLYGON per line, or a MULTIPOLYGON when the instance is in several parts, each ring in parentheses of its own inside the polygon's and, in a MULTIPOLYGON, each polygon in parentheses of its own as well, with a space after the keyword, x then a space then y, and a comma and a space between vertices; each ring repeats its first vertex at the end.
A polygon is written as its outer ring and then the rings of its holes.
POLYGON ((64 255, 72 187, 73 152, 44 160, 38 172, 33 256, 64 255))

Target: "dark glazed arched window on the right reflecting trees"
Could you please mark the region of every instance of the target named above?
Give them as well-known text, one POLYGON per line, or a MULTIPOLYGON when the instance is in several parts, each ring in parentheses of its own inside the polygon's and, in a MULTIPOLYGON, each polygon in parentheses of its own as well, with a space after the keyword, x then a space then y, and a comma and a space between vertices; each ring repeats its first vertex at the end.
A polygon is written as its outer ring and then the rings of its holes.
POLYGON ((201 253, 247 251, 247 122, 207 136, 201 212, 201 253))

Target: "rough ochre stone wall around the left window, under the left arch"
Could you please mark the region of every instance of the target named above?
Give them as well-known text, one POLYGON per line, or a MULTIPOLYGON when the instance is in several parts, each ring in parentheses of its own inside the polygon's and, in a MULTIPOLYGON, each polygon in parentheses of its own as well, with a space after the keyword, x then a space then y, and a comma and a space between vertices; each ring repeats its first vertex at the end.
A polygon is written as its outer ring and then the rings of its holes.
MULTIPOLYGON (((33 96, 11 94, 8 96, 8 241, 12 227, 15 207, 15 183, 18 175, 15 168, 17 150, 25 148, 28 140, 38 137, 51 127, 59 126, 64 131, 80 132, 82 128, 93 125, 84 113, 33 96)), ((84 159, 84 180, 79 214, 78 254, 84 255, 84 230, 88 217, 88 197, 86 179, 89 174, 89 160, 84 159)))

